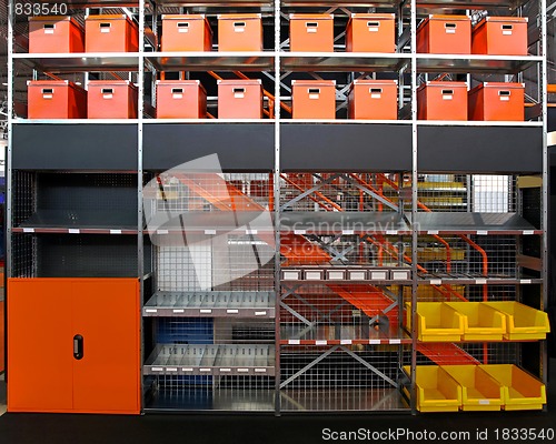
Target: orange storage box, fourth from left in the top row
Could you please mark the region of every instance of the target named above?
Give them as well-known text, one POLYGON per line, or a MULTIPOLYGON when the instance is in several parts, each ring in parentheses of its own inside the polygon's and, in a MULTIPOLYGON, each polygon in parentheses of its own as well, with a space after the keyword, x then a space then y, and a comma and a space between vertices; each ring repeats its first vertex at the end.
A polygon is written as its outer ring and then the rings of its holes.
POLYGON ((262 51, 261 16, 218 16, 218 51, 262 51))

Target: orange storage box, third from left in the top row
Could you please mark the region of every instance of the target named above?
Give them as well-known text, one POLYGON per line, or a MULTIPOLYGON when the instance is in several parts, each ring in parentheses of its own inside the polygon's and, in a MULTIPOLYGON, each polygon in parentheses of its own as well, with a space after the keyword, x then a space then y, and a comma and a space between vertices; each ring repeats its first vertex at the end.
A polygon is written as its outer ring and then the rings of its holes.
POLYGON ((203 14, 162 16, 162 51, 210 51, 212 30, 203 14))

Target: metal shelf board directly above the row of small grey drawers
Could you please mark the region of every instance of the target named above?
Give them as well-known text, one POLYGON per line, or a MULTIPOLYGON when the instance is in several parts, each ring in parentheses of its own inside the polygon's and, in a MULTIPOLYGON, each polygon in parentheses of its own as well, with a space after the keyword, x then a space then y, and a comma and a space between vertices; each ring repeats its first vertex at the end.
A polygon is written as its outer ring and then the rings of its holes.
POLYGON ((326 212, 282 211, 280 230, 295 234, 410 234, 400 213, 391 212, 326 212))

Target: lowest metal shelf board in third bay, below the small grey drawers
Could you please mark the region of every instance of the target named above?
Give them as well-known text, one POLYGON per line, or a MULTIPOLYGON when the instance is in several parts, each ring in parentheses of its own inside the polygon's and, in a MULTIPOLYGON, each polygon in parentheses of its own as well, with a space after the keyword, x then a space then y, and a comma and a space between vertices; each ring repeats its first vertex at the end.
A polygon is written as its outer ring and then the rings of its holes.
MULTIPOLYGON (((296 337, 306 325, 294 327, 282 326, 280 333, 280 345, 400 345, 410 344, 411 337, 403 329, 395 325, 377 325, 378 329, 369 325, 347 325, 336 326, 334 334, 338 337, 329 337, 331 331, 328 326, 317 326, 311 329, 304 337, 296 337), (328 336, 328 337, 327 337, 328 336)), ((286 349, 288 351, 288 349, 286 349)))

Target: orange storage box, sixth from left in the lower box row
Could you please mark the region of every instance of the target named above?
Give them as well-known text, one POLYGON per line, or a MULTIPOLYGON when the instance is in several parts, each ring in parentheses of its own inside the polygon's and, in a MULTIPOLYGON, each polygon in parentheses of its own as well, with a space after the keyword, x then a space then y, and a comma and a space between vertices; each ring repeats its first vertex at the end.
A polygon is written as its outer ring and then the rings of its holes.
POLYGON ((396 120, 398 84, 395 80, 355 80, 348 104, 349 119, 396 120))

